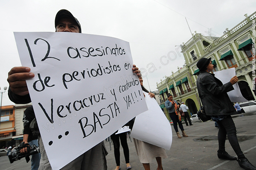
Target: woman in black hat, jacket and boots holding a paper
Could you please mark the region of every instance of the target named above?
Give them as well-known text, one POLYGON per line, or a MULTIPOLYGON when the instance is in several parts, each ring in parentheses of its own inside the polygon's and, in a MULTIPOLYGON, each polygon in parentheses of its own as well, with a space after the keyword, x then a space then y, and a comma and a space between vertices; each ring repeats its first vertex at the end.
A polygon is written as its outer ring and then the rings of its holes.
POLYGON ((233 90, 233 84, 238 81, 237 76, 231 78, 231 80, 222 84, 220 80, 215 78, 214 74, 210 73, 213 70, 213 64, 211 58, 201 58, 197 67, 200 70, 198 79, 196 82, 199 97, 206 115, 210 115, 213 121, 216 121, 219 125, 218 131, 218 158, 227 160, 236 160, 235 156, 230 156, 225 151, 225 141, 228 138, 233 150, 238 156, 238 162, 240 167, 245 170, 256 170, 247 158, 245 158, 241 148, 239 146, 236 127, 231 115, 237 114, 236 109, 233 107, 227 92, 233 90))

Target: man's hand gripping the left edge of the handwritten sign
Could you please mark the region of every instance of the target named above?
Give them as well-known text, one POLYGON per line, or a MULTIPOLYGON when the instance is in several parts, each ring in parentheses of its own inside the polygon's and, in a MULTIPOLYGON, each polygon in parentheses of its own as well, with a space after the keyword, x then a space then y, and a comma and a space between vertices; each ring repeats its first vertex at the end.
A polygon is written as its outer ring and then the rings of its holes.
POLYGON ((29 67, 13 67, 8 73, 7 81, 13 93, 26 95, 29 94, 29 90, 25 80, 33 77, 35 74, 30 72, 29 67))

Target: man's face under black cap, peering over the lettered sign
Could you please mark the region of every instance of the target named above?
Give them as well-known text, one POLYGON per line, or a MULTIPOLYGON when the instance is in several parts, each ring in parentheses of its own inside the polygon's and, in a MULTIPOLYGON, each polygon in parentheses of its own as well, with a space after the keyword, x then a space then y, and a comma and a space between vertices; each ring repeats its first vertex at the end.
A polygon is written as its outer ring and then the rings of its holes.
POLYGON ((70 18, 62 18, 56 27, 56 32, 77 32, 79 28, 70 18))

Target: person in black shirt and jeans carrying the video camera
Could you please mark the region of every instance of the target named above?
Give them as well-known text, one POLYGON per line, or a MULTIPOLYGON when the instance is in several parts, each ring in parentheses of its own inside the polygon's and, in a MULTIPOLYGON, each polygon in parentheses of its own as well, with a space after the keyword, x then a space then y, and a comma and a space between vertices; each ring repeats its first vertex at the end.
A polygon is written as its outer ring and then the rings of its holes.
MULTIPOLYGON (((26 108, 23 115, 23 125, 24 125, 23 142, 28 147, 33 147, 33 145, 38 147, 38 135, 33 135, 32 130, 29 128, 34 118, 35 118, 34 109, 32 106, 29 106, 28 108, 26 108)), ((24 147, 20 149, 20 153, 27 153, 28 147, 24 147)), ((40 153, 36 153, 32 155, 31 170, 38 170, 40 158, 41 158, 40 153)))

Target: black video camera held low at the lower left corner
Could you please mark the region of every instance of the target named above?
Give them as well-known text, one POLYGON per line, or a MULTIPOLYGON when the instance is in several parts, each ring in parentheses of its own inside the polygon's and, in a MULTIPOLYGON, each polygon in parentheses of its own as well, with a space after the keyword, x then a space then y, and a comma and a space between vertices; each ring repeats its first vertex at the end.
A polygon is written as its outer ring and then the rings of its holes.
POLYGON ((24 142, 20 143, 18 147, 15 147, 12 152, 9 152, 8 157, 10 160, 10 163, 12 164, 14 161, 20 160, 21 158, 26 158, 26 162, 28 163, 30 158, 30 155, 39 153, 39 148, 33 145, 32 147, 29 147, 29 144, 25 144, 24 142), (20 150, 23 148, 27 148, 26 153, 20 153, 20 150))

